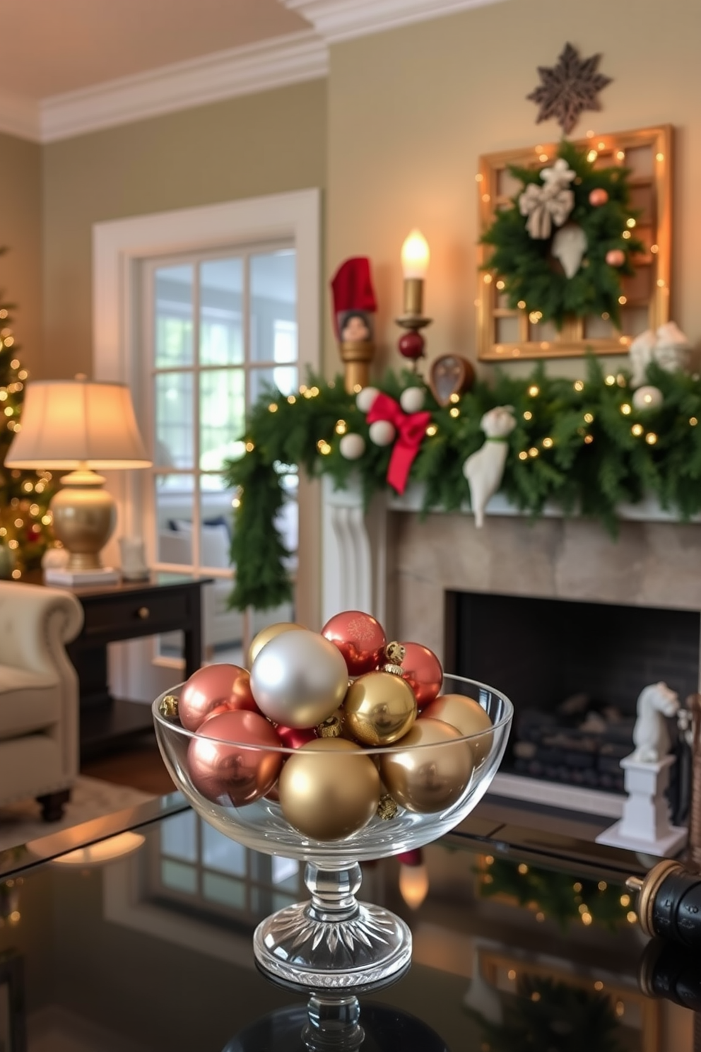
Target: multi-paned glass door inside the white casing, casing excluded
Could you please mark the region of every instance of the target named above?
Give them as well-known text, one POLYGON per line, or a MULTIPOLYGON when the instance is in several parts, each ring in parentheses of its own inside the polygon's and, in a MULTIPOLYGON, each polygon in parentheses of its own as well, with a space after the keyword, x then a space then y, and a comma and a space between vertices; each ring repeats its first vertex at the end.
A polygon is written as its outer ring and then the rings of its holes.
MULTIPOLYGON (((255 626, 227 608, 236 494, 221 472, 243 456, 249 406, 267 390, 297 390, 296 252, 289 242, 198 252, 149 260, 143 274, 151 562, 157 571, 215 579, 204 596, 206 656, 240 663, 255 626)), ((277 527, 296 552, 293 468, 285 491, 277 527)), ((286 607, 273 620, 293 616, 286 607)), ((179 633, 160 641, 162 656, 178 658, 180 648, 179 633)))

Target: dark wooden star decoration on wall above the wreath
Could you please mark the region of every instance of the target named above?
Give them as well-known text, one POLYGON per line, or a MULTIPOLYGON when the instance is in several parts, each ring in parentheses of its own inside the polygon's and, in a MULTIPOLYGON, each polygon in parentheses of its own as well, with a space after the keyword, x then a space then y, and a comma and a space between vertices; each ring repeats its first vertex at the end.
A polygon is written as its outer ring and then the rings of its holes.
POLYGON ((536 123, 554 117, 565 135, 570 135, 582 109, 601 109, 598 93, 611 84, 611 77, 597 73, 600 55, 580 59, 572 44, 565 44, 557 65, 538 66, 542 83, 527 95, 540 106, 536 123))

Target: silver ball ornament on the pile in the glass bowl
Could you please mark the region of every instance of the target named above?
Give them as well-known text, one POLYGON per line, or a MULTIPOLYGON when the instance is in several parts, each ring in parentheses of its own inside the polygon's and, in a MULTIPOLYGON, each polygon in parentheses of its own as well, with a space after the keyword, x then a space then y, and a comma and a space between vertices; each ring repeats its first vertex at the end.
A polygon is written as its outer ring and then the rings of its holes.
POLYGON ((261 712, 285 727, 317 727, 335 712, 347 688, 348 669, 337 647, 306 628, 275 635, 251 668, 261 712))

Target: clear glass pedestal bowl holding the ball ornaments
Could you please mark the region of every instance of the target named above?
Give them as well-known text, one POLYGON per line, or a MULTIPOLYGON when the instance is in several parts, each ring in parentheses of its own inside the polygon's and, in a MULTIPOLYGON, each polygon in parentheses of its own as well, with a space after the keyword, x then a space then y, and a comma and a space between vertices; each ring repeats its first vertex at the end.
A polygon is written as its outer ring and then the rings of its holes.
MULTIPOLYGON (((314 839, 292 826, 277 802, 276 784, 267 795, 242 803, 251 796, 247 788, 251 771, 255 781, 256 771, 282 769, 291 757, 300 755, 300 750, 204 739, 163 714, 161 703, 166 694, 153 702, 163 760, 193 810, 245 847, 306 863, 305 883, 311 899, 271 914, 253 935, 257 966, 277 983, 296 990, 355 994, 386 986, 409 967, 408 926, 389 910, 355 897, 362 882, 359 863, 419 848, 458 825, 487 792, 503 756, 513 715, 513 706, 503 694, 472 680, 446 675, 441 693, 474 699, 489 715, 492 727, 437 745, 403 746, 399 740, 384 748, 337 753, 335 787, 333 782, 329 784, 329 753, 305 750, 307 781, 312 786, 311 810, 321 807, 333 816, 335 788, 347 803, 348 787, 367 781, 369 763, 386 781, 393 771, 392 785, 398 778, 398 783, 407 782, 409 786, 405 786, 404 796, 408 806, 395 808, 394 802, 385 797, 383 804, 389 804, 389 808, 380 804, 366 825, 334 839, 314 839), (197 739, 206 743, 206 749, 225 750, 229 776, 238 778, 230 790, 214 782, 215 788, 209 785, 208 795, 204 795, 201 780, 195 780, 195 785, 188 750, 197 739), (319 787, 319 800, 313 798, 315 785, 319 787), (417 802, 421 810, 410 809, 417 802)), ((167 694, 178 696, 179 688, 167 694)), ((370 775, 371 781, 377 781, 374 772, 370 775)), ((386 786, 382 792, 388 792, 386 786)))

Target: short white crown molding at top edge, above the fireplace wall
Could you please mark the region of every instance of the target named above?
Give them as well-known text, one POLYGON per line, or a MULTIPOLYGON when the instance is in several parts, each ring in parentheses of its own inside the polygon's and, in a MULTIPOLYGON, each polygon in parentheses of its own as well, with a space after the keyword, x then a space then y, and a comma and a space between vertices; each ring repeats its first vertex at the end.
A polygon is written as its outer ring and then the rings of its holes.
POLYGON ((353 40, 414 22, 427 22, 502 0, 282 0, 314 26, 327 43, 353 40))

